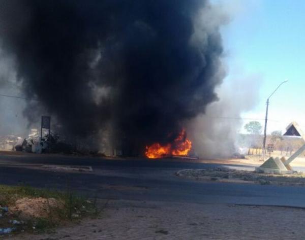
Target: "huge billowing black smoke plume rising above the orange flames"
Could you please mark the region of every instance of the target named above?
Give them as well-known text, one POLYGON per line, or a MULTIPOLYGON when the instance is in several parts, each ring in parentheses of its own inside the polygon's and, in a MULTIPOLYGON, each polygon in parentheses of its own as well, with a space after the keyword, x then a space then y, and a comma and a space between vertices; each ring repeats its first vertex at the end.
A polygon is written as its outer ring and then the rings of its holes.
POLYGON ((204 0, 0 0, 1 48, 27 97, 71 135, 111 123, 133 146, 174 139, 217 100, 220 22, 204 0))

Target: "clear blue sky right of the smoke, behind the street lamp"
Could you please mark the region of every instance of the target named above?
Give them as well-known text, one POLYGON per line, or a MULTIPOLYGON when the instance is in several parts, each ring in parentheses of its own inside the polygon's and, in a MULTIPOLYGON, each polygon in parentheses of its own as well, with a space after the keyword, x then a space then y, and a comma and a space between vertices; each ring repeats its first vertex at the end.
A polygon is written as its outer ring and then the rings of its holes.
POLYGON ((270 98, 269 119, 276 121, 268 122, 268 132, 284 131, 292 120, 305 129, 305 1, 220 2, 233 12, 232 20, 222 29, 227 79, 239 69, 260 80, 252 83, 260 85, 256 107, 242 117, 264 118, 266 98, 288 79, 270 98))

